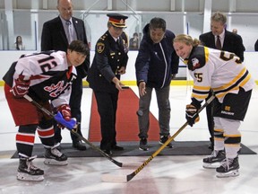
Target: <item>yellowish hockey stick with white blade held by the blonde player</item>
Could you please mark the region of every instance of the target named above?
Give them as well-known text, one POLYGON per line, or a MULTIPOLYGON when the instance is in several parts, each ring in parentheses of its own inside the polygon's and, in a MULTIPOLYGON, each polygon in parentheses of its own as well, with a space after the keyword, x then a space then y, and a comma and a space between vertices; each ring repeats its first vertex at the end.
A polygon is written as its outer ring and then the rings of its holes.
MULTIPOLYGON (((200 108, 200 110, 198 110, 198 113, 200 113, 205 107, 207 107, 211 101, 213 101, 215 98, 215 96, 211 96, 203 105, 202 107, 200 108)), ((174 140, 174 138, 188 125, 188 122, 186 121, 185 124, 179 128, 176 133, 172 136, 172 137, 169 137, 168 140, 159 147, 159 149, 154 153, 154 154, 151 154, 150 157, 144 162, 142 163, 141 166, 139 166, 134 172, 132 172, 131 174, 128 174, 123 177, 118 177, 118 176, 112 176, 110 174, 104 174, 102 175, 102 181, 109 181, 109 182, 128 182, 128 181, 131 181, 133 179, 133 177, 138 174, 139 172, 142 171, 142 169, 148 164, 150 163, 150 161, 155 157, 157 156, 171 141, 174 140)))

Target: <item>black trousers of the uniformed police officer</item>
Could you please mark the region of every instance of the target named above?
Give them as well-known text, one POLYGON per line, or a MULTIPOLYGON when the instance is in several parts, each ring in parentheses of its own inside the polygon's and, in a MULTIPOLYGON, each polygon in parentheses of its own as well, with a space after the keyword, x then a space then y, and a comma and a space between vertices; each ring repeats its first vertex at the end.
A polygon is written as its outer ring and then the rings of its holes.
POLYGON ((101 128, 100 149, 110 150, 116 145, 116 109, 118 91, 116 93, 103 93, 94 91, 98 104, 101 128))

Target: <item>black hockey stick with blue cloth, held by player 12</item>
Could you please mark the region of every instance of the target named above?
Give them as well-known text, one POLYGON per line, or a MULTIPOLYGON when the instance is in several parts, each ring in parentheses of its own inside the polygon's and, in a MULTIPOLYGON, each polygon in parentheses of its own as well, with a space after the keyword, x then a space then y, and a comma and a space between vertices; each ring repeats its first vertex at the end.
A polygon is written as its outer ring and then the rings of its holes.
POLYGON ((71 119, 70 121, 66 121, 65 119, 63 119, 63 116, 62 116, 62 114, 60 112, 57 112, 56 114, 53 114, 52 112, 50 112, 49 110, 47 110, 43 106, 41 106, 37 101, 34 101, 33 99, 31 99, 29 95, 25 94, 23 97, 26 100, 30 101, 33 105, 38 107, 39 110, 42 110, 48 116, 54 118, 56 120, 56 122, 62 124, 65 128, 69 129, 73 133, 73 135, 75 135, 76 137, 79 137, 80 140, 82 140, 86 144, 90 145, 90 147, 92 147, 95 151, 99 152, 99 154, 103 155, 108 160, 110 160, 112 163, 115 163, 117 166, 122 167, 123 163, 117 162, 115 159, 113 159, 108 154, 106 154, 101 149, 99 149, 99 147, 97 147, 96 145, 93 145, 92 143, 90 143, 89 140, 87 140, 86 138, 84 138, 80 134, 78 134, 76 132, 76 129, 74 129, 74 127, 76 126, 76 121, 75 120, 71 119))

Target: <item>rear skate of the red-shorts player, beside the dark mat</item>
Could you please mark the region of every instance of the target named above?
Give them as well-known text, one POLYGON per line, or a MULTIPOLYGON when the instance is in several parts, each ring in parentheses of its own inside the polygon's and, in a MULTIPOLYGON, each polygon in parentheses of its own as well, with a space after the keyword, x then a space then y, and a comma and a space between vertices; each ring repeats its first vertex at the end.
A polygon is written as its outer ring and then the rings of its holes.
POLYGON ((62 154, 58 149, 58 145, 53 147, 45 146, 45 161, 47 165, 67 165, 67 156, 62 154))

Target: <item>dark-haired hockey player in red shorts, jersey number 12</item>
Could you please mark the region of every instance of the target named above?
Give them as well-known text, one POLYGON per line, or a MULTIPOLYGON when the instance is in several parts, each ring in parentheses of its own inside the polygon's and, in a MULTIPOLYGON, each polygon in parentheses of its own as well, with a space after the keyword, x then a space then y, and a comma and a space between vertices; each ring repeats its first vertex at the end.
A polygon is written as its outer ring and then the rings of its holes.
POLYGON ((89 53, 81 40, 74 40, 67 52, 46 51, 23 55, 13 62, 4 75, 4 93, 16 126, 16 147, 20 163, 17 179, 42 181, 44 171, 34 166, 32 150, 35 132, 45 147, 45 164, 65 165, 67 156, 56 149, 53 119, 36 108, 23 96, 28 94, 45 109, 61 112, 63 118, 71 120, 69 99, 71 85, 76 79, 75 66, 80 66, 89 53))

